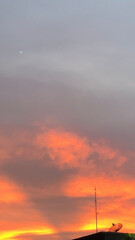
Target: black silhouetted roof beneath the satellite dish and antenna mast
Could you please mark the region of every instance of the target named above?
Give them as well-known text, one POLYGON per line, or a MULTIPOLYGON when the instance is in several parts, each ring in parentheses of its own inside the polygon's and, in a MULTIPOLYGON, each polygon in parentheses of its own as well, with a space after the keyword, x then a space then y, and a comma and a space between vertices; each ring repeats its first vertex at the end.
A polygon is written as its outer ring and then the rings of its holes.
POLYGON ((98 232, 72 240, 135 240, 133 233, 98 232))

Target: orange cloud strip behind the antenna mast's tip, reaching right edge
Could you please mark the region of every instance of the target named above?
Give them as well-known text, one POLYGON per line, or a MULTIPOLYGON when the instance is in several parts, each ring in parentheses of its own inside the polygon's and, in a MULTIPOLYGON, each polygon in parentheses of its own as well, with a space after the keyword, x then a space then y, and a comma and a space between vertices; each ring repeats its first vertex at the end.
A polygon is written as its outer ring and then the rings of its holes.
POLYGON ((135 197, 135 180, 124 180, 115 177, 107 178, 104 176, 73 177, 64 186, 63 191, 70 197, 85 197, 93 195, 95 185, 100 197, 121 196, 126 199, 135 197))

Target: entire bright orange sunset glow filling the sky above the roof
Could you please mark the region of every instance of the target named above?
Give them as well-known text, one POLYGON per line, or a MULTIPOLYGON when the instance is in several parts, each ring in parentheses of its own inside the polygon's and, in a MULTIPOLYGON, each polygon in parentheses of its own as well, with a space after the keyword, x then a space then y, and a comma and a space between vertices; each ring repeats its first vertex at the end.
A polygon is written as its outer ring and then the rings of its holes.
MULTIPOLYGON (((0 207, 3 219, 0 222, 0 239, 19 239, 19 236, 23 237, 24 234, 44 235, 69 230, 95 232, 95 185, 99 211, 98 229, 108 230, 112 222, 122 222, 123 232, 133 232, 135 180, 122 174, 122 167, 128 161, 128 154, 125 155, 119 149, 114 149, 105 140, 96 141, 58 129, 41 130, 42 132, 35 132, 33 135, 27 131, 17 132, 13 142, 4 137, 0 139, 1 165, 4 164, 2 159, 6 163, 13 161, 16 164, 17 159, 22 158, 25 159, 24 166, 27 166, 27 161, 34 160, 34 167, 38 167, 39 164, 39 169, 42 166, 43 168, 49 166, 50 171, 52 167, 51 177, 40 178, 38 172, 36 186, 32 181, 28 186, 23 186, 22 178, 25 177, 25 172, 19 179, 22 186, 17 180, 15 183, 6 177, 0 178, 0 207), (46 158, 47 155, 49 158, 46 158), (75 169, 72 171, 73 168, 75 169), (45 206, 46 200, 49 210, 45 206), (64 205, 62 201, 65 201, 64 205), (60 209, 60 214, 68 215, 67 221, 59 218, 57 207, 60 209), (69 208, 69 212, 67 209, 65 211, 65 208, 69 208), (51 227, 42 227, 44 223, 51 227)), ((28 165, 29 168, 30 166, 31 164, 28 165)), ((29 172, 32 173, 31 169, 29 172)), ((34 179, 34 176, 32 177, 34 179)))

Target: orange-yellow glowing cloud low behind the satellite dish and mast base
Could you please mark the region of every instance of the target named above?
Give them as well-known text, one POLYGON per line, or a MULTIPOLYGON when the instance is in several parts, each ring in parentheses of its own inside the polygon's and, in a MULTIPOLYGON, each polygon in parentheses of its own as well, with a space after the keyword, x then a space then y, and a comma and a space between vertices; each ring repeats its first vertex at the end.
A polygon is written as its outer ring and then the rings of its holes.
MULTIPOLYGON (((121 222, 123 224, 122 232, 134 232, 135 223, 134 223, 134 205, 130 205, 124 199, 99 199, 98 201, 98 231, 108 231, 112 223, 121 222)), ((96 222, 95 222, 95 212, 94 212, 94 199, 93 206, 91 203, 87 207, 87 210, 82 213, 84 215, 84 221, 82 224, 78 225, 78 231, 95 231, 96 222)), ((81 223, 81 216, 78 219, 78 222, 81 223)))

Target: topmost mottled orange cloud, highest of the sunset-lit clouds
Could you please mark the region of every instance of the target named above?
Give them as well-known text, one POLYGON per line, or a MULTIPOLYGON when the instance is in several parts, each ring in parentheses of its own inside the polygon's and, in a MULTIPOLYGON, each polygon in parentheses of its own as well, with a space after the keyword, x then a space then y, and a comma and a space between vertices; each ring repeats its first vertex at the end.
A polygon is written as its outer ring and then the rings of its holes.
POLYGON ((59 168, 84 168, 86 164, 94 168, 95 159, 106 165, 121 167, 127 161, 127 156, 109 146, 105 140, 95 141, 59 129, 39 130, 33 126, 32 131, 14 129, 10 136, 0 135, 0 163, 21 157, 41 160, 46 154, 59 168))

